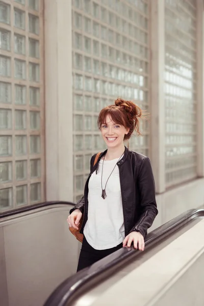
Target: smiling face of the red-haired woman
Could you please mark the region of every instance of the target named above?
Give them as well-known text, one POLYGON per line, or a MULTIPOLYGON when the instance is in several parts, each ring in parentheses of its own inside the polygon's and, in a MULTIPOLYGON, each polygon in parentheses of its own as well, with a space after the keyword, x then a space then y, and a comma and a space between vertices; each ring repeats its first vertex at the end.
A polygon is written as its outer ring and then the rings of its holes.
POLYGON ((123 125, 117 124, 112 121, 112 118, 107 115, 106 123, 101 124, 100 132, 107 147, 119 147, 123 144, 124 135, 129 133, 129 130, 125 129, 123 125))

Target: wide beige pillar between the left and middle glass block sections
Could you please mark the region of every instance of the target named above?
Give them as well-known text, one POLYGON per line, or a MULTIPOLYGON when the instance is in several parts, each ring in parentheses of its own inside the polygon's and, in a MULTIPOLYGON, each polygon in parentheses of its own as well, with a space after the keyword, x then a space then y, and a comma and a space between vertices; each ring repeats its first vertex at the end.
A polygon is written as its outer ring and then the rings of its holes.
POLYGON ((46 199, 73 200, 71 1, 45 0, 46 199))

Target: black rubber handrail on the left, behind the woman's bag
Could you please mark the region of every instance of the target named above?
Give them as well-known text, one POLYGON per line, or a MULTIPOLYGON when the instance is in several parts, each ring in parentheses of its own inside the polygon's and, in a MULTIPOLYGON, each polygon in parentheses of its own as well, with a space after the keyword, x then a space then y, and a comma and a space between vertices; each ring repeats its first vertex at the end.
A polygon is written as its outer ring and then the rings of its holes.
POLYGON ((10 211, 2 212, 2 213, 0 213, 0 219, 5 218, 5 217, 10 217, 10 216, 13 216, 13 215, 16 215, 16 214, 29 212, 29 211, 32 211, 32 210, 35 210, 35 209, 46 207, 46 206, 56 205, 56 204, 75 205, 74 203, 67 202, 67 201, 46 201, 46 202, 33 204, 33 205, 29 205, 29 206, 24 206, 24 207, 19 207, 19 208, 16 208, 16 209, 12 209, 10 211))

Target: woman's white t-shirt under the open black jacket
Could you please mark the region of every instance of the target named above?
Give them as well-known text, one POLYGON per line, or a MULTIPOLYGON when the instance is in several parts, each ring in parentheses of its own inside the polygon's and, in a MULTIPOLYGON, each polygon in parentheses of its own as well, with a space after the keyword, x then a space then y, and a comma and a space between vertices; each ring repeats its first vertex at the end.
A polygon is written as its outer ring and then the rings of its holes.
MULTIPOLYGON (((118 159, 104 161, 103 189, 118 159)), ((109 249, 124 239, 124 217, 120 188, 119 169, 116 165, 107 186, 107 197, 101 197, 101 170, 103 161, 99 161, 97 174, 94 171, 89 179, 88 220, 84 235, 88 243, 97 250, 109 249)))

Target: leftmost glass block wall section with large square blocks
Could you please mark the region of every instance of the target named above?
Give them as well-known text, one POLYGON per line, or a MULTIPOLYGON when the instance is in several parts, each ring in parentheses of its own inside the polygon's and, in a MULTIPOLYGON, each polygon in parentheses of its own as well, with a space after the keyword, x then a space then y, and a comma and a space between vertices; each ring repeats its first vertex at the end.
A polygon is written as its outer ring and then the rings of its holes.
POLYGON ((0 211, 44 199, 42 3, 0 1, 0 211))

